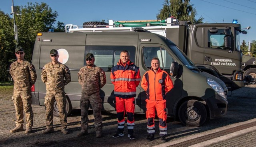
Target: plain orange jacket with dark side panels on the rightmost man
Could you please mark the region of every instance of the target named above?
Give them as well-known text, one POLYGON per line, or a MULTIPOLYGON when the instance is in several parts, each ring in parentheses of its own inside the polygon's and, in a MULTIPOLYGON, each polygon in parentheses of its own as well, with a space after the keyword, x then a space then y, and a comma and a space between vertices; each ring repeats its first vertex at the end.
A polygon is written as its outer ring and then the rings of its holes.
POLYGON ((166 93, 173 88, 170 76, 160 68, 156 73, 153 69, 147 71, 140 85, 146 91, 147 99, 152 101, 164 100, 166 93))

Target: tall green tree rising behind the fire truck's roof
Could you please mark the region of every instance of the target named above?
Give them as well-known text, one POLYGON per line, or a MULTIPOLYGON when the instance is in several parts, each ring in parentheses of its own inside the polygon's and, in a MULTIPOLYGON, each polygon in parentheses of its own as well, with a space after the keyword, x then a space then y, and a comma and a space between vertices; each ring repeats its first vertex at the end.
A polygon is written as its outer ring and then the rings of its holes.
POLYGON ((193 6, 190 4, 190 0, 170 0, 170 3, 168 0, 165 0, 163 8, 157 15, 157 19, 164 20, 174 16, 178 20, 190 21, 193 24, 203 23, 204 18, 202 16, 196 20, 197 11, 193 6))

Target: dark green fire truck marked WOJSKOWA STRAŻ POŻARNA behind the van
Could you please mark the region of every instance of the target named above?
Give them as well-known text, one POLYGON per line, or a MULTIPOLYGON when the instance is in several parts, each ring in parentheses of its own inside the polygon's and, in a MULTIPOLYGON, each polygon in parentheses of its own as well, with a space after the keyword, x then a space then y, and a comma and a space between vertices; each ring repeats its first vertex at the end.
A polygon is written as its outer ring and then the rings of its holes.
POLYGON ((173 41, 202 71, 223 80, 229 90, 245 85, 240 50, 240 24, 189 24, 173 17, 166 20, 86 22, 66 25, 66 32, 132 31, 142 27, 173 41))

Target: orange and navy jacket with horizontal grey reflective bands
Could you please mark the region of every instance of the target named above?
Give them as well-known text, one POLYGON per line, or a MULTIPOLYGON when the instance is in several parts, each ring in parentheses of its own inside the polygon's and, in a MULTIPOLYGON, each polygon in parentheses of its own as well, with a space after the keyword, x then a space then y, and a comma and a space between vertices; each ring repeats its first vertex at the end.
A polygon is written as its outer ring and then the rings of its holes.
POLYGON ((132 98, 136 96, 136 87, 140 84, 140 69, 130 60, 121 59, 111 70, 111 82, 114 84, 114 96, 132 98))

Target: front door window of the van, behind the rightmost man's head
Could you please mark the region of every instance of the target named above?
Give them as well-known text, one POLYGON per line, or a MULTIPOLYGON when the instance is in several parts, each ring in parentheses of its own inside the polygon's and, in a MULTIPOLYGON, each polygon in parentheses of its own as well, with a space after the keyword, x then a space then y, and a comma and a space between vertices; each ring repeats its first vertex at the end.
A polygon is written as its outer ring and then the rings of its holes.
POLYGON ((151 60, 153 57, 157 57, 160 60, 160 68, 166 71, 167 73, 170 72, 170 67, 172 61, 174 59, 171 55, 162 47, 144 47, 143 48, 143 61, 144 65, 151 69, 151 60))

